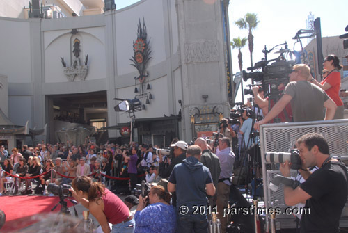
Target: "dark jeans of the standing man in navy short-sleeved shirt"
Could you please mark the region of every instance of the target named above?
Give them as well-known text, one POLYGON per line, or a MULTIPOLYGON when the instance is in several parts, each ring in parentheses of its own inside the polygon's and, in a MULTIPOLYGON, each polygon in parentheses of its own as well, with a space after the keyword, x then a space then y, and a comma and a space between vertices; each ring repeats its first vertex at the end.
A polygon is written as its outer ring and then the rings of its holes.
POLYGON ((180 233, 207 233, 208 220, 206 215, 178 215, 177 216, 177 230, 180 233))

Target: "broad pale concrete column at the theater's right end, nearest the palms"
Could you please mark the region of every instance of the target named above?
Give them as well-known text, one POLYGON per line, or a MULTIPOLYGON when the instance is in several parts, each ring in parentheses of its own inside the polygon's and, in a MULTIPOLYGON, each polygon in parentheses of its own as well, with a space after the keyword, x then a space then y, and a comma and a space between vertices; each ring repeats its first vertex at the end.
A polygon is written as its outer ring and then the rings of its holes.
MULTIPOLYGON (((175 3, 182 67, 182 139, 189 141, 193 136, 190 114, 195 108, 218 106, 224 117, 230 114, 221 14, 223 1, 176 0, 175 3), (208 95, 207 102, 203 95, 208 95)), ((214 115, 207 123, 218 121, 219 115, 214 115)))

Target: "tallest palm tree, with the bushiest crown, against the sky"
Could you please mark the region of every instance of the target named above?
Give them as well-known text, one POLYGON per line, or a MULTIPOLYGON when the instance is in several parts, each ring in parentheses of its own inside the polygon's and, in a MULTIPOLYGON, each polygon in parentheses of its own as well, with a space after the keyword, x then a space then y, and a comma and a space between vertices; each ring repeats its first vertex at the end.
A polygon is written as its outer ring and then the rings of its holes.
POLYGON ((253 66, 253 50, 254 50, 254 43, 253 43, 253 29, 258 26, 258 15, 255 13, 246 13, 244 18, 238 19, 235 24, 239 26, 239 29, 248 29, 249 35, 248 35, 248 43, 249 43, 249 51, 250 51, 250 65, 253 66))

